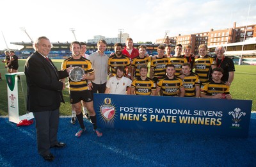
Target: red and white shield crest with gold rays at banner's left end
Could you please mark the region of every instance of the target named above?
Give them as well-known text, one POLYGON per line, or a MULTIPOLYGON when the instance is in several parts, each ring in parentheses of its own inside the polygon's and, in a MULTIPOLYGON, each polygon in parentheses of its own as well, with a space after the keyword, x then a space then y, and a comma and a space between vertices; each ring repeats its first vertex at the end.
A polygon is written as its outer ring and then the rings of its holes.
POLYGON ((116 107, 111 98, 105 98, 100 104, 100 120, 107 126, 113 127, 115 122, 116 107))

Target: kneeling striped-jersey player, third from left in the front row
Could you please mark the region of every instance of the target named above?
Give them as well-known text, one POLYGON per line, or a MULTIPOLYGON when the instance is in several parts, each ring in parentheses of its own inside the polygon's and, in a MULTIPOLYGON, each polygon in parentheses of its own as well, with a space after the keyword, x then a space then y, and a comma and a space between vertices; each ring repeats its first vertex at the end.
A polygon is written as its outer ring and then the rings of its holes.
POLYGON ((166 77, 161 79, 156 85, 156 93, 162 91, 163 96, 184 97, 185 89, 182 80, 175 77, 175 67, 170 64, 166 66, 166 77))

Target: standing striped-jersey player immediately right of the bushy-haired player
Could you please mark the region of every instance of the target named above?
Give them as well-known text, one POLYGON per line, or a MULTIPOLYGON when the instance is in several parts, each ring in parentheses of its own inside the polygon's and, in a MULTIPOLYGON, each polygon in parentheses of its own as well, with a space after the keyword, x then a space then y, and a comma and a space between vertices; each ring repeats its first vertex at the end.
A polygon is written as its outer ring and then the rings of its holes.
POLYGON ((151 61, 151 57, 146 55, 147 47, 146 45, 139 46, 140 55, 137 58, 134 58, 132 61, 132 72, 131 79, 140 77, 140 67, 141 65, 148 65, 151 61))

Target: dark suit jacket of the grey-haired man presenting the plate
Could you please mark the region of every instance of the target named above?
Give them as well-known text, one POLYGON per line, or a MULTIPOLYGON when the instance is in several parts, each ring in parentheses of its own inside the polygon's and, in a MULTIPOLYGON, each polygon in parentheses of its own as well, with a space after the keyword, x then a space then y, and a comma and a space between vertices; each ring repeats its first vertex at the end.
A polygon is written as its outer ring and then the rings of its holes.
MULTIPOLYGON (((50 60, 51 61, 51 60, 50 60)), ((63 83, 67 70, 58 71, 39 52, 34 52, 25 63, 24 72, 28 85, 27 110, 29 112, 52 111, 64 102, 63 83)))

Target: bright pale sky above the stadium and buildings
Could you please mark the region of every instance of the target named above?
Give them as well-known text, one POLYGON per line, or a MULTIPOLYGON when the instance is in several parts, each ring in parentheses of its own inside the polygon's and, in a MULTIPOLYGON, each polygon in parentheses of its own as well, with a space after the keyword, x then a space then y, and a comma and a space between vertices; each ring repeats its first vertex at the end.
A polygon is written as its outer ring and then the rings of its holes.
MULTIPOLYGON (((20 28, 35 40, 47 36, 51 42, 78 41, 93 35, 117 37, 118 29, 129 33, 134 42, 156 42, 169 36, 189 35, 213 29, 256 24, 256 1, 178 1, 178 0, 1 0, 0 30, 8 47, 10 42, 29 42, 20 28), (247 15, 250 5, 250 13, 247 15)), ((5 49, 0 36, 0 49, 5 49)))

